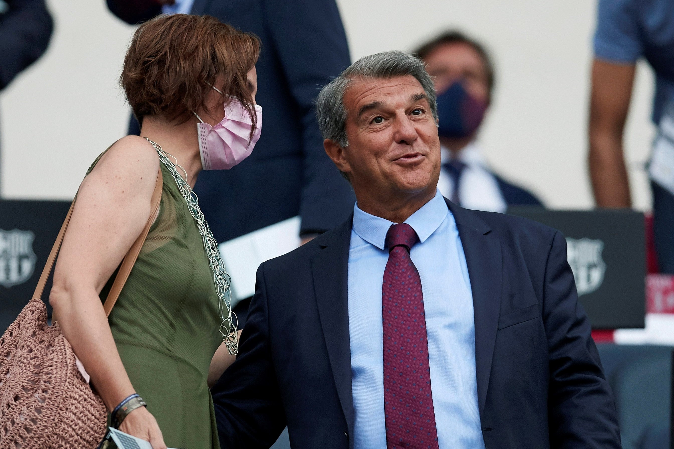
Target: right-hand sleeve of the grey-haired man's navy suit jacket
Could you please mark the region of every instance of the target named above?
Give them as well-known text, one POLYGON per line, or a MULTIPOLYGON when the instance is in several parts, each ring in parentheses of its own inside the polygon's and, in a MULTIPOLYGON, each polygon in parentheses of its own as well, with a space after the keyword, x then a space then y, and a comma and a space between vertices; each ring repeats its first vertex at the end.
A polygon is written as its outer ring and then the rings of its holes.
POLYGON ((620 449, 613 394, 590 337, 590 322, 578 304, 574 274, 566 257, 566 240, 555 232, 543 287, 551 446, 620 449))

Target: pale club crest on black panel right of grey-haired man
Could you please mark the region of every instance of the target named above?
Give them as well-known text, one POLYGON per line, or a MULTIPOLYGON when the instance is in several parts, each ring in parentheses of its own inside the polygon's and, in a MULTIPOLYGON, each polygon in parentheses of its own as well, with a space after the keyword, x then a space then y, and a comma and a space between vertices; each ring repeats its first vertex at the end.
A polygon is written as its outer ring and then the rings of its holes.
POLYGON ((606 273, 606 264, 601 258, 604 242, 590 238, 566 238, 568 261, 574 272, 578 296, 592 293, 601 286, 606 273))

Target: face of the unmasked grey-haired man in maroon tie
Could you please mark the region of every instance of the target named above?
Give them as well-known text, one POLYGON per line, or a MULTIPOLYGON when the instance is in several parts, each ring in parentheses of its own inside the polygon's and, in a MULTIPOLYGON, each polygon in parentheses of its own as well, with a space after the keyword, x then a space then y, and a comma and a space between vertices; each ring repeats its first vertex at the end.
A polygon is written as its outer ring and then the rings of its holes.
POLYGON ((435 191, 440 170, 437 126, 421 84, 411 75, 354 79, 344 93, 348 147, 328 154, 356 195, 435 191))

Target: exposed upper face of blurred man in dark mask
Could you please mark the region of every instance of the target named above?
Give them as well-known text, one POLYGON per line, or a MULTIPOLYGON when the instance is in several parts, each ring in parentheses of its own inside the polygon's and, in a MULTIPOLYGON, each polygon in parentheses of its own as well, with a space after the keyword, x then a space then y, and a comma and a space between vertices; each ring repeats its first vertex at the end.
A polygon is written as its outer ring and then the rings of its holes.
POLYGON ((464 88, 477 100, 489 102, 489 81, 485 62, 472 46, 462 42, 441 44, 424 58, 435 80, 435 92, 442 94, 461 79, 464 88))

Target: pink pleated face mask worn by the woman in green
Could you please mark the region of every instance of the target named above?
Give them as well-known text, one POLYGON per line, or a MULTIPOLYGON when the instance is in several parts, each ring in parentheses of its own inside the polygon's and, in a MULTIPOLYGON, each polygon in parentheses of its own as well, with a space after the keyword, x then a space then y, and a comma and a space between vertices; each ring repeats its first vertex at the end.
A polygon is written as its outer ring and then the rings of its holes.
POLYGON ((200 121, 197 123, 197 133, 204 170, 228 170, 239 164, 250 156, 262 133, 262 107, 255 104, 256 126, 253 139, 248 141, 253 123, 241 102, 236 98, 232 98, 225 106, 224 118, 214 127, 204 123, 204 120, 196 113, 194 115, 200 121))

